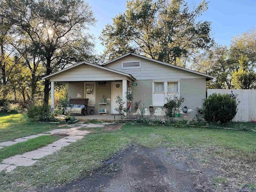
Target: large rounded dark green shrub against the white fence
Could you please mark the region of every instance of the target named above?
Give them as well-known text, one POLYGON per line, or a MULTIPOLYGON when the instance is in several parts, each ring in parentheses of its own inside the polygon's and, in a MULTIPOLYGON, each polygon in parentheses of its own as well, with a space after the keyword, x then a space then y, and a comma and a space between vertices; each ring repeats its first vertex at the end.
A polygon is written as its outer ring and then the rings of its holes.
POLYGON ((208 122, 226 123, 236 116, 238 102, 230 94, 212 94, 204 100, 204 119, 208 122))

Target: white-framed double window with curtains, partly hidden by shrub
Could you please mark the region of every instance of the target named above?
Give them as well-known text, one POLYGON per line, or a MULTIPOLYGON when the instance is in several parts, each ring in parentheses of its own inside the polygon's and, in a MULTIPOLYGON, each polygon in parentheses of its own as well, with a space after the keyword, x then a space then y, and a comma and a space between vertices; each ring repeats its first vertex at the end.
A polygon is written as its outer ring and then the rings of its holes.
POLYGON ((153 82, 153 106, 164 106, 166 97, 178 94, 180 96, 179 81, 153 82))

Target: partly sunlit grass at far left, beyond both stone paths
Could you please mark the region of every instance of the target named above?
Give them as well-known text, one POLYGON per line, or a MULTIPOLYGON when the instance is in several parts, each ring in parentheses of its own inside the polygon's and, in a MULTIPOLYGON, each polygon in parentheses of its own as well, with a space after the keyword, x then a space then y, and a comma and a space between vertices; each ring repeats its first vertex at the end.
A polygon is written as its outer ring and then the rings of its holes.
POLYGON ((0 114, 0 142, 45 133, 58 128, 57 125, 54 123, 30 122, 26 118, 26 114, 0 114))

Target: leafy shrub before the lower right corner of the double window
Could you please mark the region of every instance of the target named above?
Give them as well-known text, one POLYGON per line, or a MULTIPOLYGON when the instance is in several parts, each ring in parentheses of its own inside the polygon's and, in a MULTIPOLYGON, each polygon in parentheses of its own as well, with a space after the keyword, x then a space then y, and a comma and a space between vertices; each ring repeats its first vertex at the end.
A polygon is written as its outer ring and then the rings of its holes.
POLYGON ((167 102, 164 104, 164 107, 166 108, 166 118, 168 120, 173 121, 174 115, 176 110, 181 106, 181 104, 184 102, 184 97, 178 97, 177 95, 168 96, 166 98, 167 102))

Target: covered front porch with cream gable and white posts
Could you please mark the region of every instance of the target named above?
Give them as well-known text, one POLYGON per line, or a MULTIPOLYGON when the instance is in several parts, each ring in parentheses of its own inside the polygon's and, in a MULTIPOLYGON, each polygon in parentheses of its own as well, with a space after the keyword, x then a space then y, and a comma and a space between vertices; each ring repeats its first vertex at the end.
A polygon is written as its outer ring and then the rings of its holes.
MULTIPOLYGON (((126 92, 131 92, 132 82, 136 80, 130 74, 81 62, 64 70, 44 77, 51 82, 51 107, 55 108, 55 82, 68 83, 68 98, 88 98, 87 113, 95 115, 118 114, 116 97, 119 95, 126 107, 126 92), (92 91, 88 91, 92 90, 92 91)), ((75 103, 73 103, 75 104, 75 103)), ((114 119, 114 118, 112 118, 114 119)))

